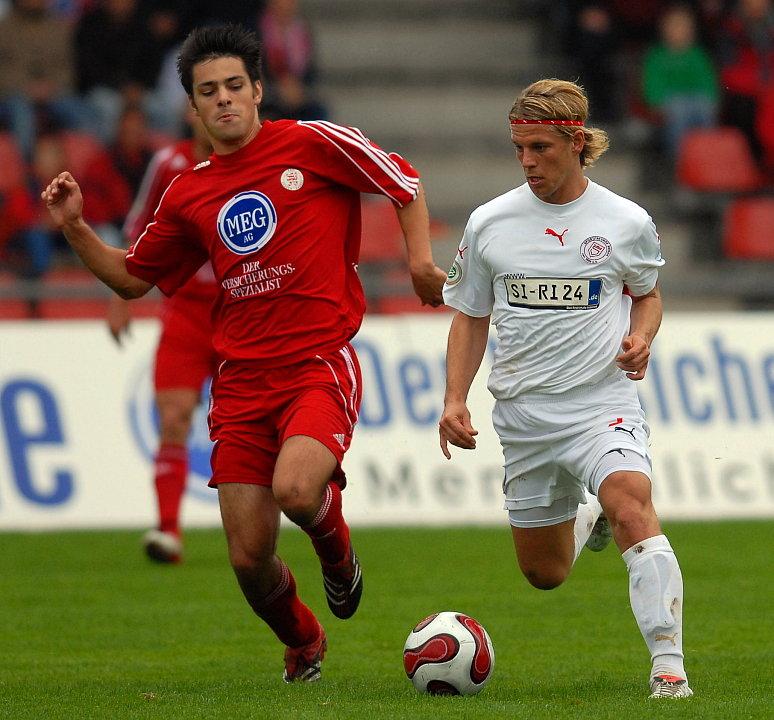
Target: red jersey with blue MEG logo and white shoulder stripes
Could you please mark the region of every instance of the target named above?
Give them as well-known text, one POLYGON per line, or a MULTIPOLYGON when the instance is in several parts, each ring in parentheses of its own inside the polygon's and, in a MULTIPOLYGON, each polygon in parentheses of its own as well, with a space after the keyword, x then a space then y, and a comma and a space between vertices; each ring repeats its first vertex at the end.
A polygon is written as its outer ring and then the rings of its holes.
POLYGON ((265 121, 245 147, 173 181, 126 265, 171 294, 209 257, 218 355, 284 365, 360 327, 360 193, 404 205, 418 189, 414 168, 359 130, 265 121))

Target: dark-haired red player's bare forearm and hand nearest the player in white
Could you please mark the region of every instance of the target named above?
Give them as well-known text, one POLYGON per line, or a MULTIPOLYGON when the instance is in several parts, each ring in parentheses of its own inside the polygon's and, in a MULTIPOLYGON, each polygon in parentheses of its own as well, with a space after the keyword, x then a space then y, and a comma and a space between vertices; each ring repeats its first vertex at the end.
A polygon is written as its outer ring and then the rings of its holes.
POLYGON ((446 273, 433 262, 430 248, 430 215, 425 191, 419 186, 417 197, 408 205, 396 207, 408 254, 409 272, 414 292, 423 305, 443 305, 443 284, 446 273))

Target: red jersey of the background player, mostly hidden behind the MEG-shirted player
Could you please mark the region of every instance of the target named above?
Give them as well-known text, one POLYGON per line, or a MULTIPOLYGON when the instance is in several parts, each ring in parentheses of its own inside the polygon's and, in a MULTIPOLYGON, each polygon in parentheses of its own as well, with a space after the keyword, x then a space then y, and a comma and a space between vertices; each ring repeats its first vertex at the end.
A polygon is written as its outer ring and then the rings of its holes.
MULTIPOLYGON (((164 191, 181 173, 196 164, 193 140, 181 140, 162 148, 151 159, 124 222, 124 237, 134 242, 153 220, 164 191)), ((215 301, 217 288, 209 263, 204 265, 176 293, 176 299, 215 301)))

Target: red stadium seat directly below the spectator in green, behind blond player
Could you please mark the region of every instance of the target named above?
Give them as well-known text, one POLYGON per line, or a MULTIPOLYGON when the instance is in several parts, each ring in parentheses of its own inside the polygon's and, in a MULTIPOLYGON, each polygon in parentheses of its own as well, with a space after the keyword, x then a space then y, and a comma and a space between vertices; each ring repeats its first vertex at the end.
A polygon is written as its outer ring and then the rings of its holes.
POLYGON ((762 184, 747 138, 732 127, 686 133, 676 175, 684 187, 702 192, 749 192, 762 184))

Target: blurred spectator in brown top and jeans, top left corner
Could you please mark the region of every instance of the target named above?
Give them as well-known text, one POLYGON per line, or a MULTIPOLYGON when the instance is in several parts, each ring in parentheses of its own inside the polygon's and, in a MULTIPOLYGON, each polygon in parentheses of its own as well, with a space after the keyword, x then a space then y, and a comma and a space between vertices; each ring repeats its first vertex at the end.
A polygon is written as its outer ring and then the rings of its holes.
POLYGON ((0 20, 0 117, 25 157, 46 115, 65 127, 89 127, 75 94, 70 25, 48 10, 47 0, 14 0, 0 20))

